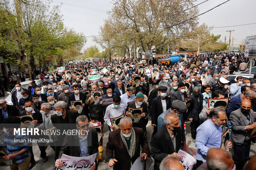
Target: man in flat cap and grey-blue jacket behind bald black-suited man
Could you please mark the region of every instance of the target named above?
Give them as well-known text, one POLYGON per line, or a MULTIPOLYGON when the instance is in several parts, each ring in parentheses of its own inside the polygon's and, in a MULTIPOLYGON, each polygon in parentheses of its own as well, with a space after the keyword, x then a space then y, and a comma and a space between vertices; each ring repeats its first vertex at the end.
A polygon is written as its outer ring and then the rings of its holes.
POLYGON ((159 132, 161 129, 165 128, 166 125, 164 123, 164 118, 167 113, 174 113, 179 117, 179 124, 181 129, 181 138, 183 144, 186 142, 186 136, 185 136, 185 129, 184 129, 184 120, 183 120, 183 113, 186 112, 187 106, 180 100, 173 100, 171 104, 171 108, 166 110, 164 113, 160 114, 160 116, 157 119, 157 131, 159 132))

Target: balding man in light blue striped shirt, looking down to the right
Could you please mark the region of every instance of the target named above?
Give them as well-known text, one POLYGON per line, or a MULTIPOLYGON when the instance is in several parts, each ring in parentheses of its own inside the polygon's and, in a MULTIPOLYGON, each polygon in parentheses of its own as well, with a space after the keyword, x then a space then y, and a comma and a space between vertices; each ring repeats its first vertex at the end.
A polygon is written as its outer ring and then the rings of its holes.
MULTIPOLYGON (((194 165, 193 170, 196 170, 206 161, 206 154, 210 148, 219 148, 221 146, 222 127, 225 126, 227 118, 226 112, 223 108, 216 107, 211 109, 209 117, 210 119, 197 128, 197 138, 195 140, 197 163, 194 165)), ((231 141, 229 141, 228 147, 232 148, 231 141)))

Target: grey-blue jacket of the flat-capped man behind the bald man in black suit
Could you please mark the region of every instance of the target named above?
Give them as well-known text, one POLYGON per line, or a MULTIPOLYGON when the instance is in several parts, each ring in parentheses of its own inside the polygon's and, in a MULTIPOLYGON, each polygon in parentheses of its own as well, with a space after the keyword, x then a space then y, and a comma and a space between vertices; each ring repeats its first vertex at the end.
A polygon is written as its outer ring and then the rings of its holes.
MULTIPOLYGON (((166 110, 164 113, 160 114, 160 116, 157 119, 157 132, 159 132, 159 130, 163 129, 166 127, 165 123, 164 123, 164 118, 166 116, 167 113, 172 113, 171 112, 171 108, 166 110)), ((181 128, 181 140, 184 142, 186 141, 186 135, 185 135, 185 129, 184 129, 184 121, 183 121, 183 114, 178 114, 178 117, 180 119, 180 128, 181 128)))

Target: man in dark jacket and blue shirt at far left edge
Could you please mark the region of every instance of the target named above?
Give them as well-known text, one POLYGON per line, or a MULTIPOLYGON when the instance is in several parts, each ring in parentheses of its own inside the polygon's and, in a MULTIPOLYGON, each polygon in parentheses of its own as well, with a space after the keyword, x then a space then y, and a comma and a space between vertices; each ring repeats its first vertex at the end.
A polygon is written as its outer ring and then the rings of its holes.
POLYGON ((0 123, 3 123, 4 120, 7 119, 8 117, 19 116, 19 109, 17 109, 13 105, 7 105, 7 102, 5 99, 0 100, 0 107, 2 107, 2 109, 0 109, 0 123))

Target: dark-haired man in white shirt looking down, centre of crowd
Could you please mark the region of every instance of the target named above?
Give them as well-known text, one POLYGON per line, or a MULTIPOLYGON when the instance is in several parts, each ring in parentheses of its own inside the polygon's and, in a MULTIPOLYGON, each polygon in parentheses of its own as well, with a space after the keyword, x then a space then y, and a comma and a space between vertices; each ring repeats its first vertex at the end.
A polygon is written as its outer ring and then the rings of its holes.
POLYGON ((109 126, 109 130, 113 131, 115 126, 111 125, 110 118, 115 118, 125 114, 126 107, 121 103, 121 98, 119 95, 113 96, 113 104, 109 105, 106 109, 106 113, 104 115, 104 120, 109 126))

